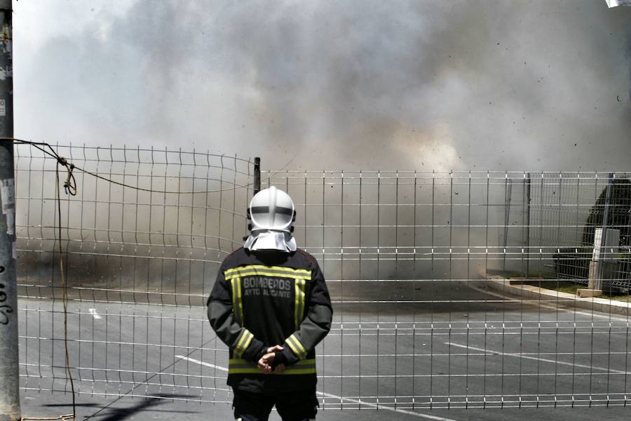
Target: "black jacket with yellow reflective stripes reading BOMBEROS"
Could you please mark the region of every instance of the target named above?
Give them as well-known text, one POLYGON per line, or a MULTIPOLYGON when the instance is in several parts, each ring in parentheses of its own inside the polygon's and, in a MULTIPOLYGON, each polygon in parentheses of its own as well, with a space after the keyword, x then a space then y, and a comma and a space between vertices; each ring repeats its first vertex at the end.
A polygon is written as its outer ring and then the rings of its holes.
POLYGON ((315 391, 315 345, 329 332, 332 314, 313 256, 236 250, 208 298, 210 326, 229 347, 228 385, 253 393, 315 391), (273 345, 285 348, 287 368, 264 374, 257 361, 273 345))

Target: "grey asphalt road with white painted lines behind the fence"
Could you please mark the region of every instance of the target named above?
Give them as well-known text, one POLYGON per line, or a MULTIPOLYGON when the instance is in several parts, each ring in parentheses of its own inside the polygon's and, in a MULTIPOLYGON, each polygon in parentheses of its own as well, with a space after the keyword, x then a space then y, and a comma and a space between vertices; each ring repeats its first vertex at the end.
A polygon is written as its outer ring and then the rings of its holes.
MULTIPOLYGON (((451 286, 430 300, 396 286, 338 295, 318 347, 318 419, 631 417, 626 318, 451 286)), ((71 300, 68 309, 78 419, 233 419, 226 347, 204 307, 71 300)), ((60 301, 20 300, 25 416, 72 412, 63 330, 60 301)))

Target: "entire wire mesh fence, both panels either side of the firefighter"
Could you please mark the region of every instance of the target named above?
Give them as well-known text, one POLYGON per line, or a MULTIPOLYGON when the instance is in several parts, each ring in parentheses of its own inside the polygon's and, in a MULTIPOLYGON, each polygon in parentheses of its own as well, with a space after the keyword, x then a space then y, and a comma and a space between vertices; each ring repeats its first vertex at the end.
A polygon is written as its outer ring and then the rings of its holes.
MULTIPOLYGON (((16 147, 24 389, 69 390, 62 258, 77 393, 231 401, 205 299, 247 232, 253 161, 55 149, 102 178, 75 171, 76 196, 57 201, 57 160, 16 147)), ((626 175, 269 171, 262 185, 294 199, 297 243, 332 293, 318 346, 324 408, 627 403, 626 175), (603 227, 617 230, 609 248, 595 247, 603 227), (595 249, 609 261, 590 278, 595 249), (607 312, 557 292, 590 281, 621 294, 607 312)))

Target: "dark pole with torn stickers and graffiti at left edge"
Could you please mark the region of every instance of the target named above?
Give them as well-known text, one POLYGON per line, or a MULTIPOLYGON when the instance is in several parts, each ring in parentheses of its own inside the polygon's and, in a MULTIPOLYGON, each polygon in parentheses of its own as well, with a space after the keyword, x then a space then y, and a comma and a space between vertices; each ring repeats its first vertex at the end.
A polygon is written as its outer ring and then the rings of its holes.
MULTIPOLYGON (((13 138, 13 27, 11 0, 0 0, 0 138, 13 138)), ((0 140, 0 421, 17 421, 18 285, 15 275, 15 173, 13 140, 0 140)))

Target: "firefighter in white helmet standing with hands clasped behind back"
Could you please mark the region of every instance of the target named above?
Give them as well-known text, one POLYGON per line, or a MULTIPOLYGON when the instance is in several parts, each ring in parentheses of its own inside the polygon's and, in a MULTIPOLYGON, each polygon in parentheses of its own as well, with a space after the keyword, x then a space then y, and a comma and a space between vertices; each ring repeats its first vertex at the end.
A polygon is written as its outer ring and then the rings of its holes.
POLYGON ((226 257, 208 298, 208 319, 229 347, 228 385, 234 417, 313 420, 315 345, 331 328, 333 310, 318 262, 297 248, 290 196, 276 187, 247 208, 250 235, 226 257))

